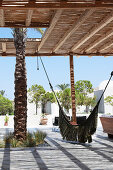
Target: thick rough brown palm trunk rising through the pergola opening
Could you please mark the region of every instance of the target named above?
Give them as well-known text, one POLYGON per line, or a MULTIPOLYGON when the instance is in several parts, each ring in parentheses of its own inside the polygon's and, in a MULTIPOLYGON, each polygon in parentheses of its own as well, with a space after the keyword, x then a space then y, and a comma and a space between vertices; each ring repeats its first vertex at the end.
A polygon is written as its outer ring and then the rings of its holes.
POLYGON ((15 110, 14 136, 18 140, 26 138, 27 124, 27 78, 25 66, 26 30, 14 29, 14 44, 16 48, 15 66, 15 110))

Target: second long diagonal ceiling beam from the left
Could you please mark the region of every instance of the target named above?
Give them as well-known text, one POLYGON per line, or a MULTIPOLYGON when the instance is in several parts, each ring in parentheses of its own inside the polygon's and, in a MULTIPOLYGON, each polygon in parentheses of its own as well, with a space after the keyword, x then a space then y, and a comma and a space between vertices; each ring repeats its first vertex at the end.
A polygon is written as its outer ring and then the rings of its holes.
POLYGON ((94 12, 93 9, 85 10, 80 18, 74 22, 71 28, 64 34, 64 36, 60 39, 57 45, 54 47, 53 52, 56 52, 63 43, 83 24, 83 22, 94 12))

